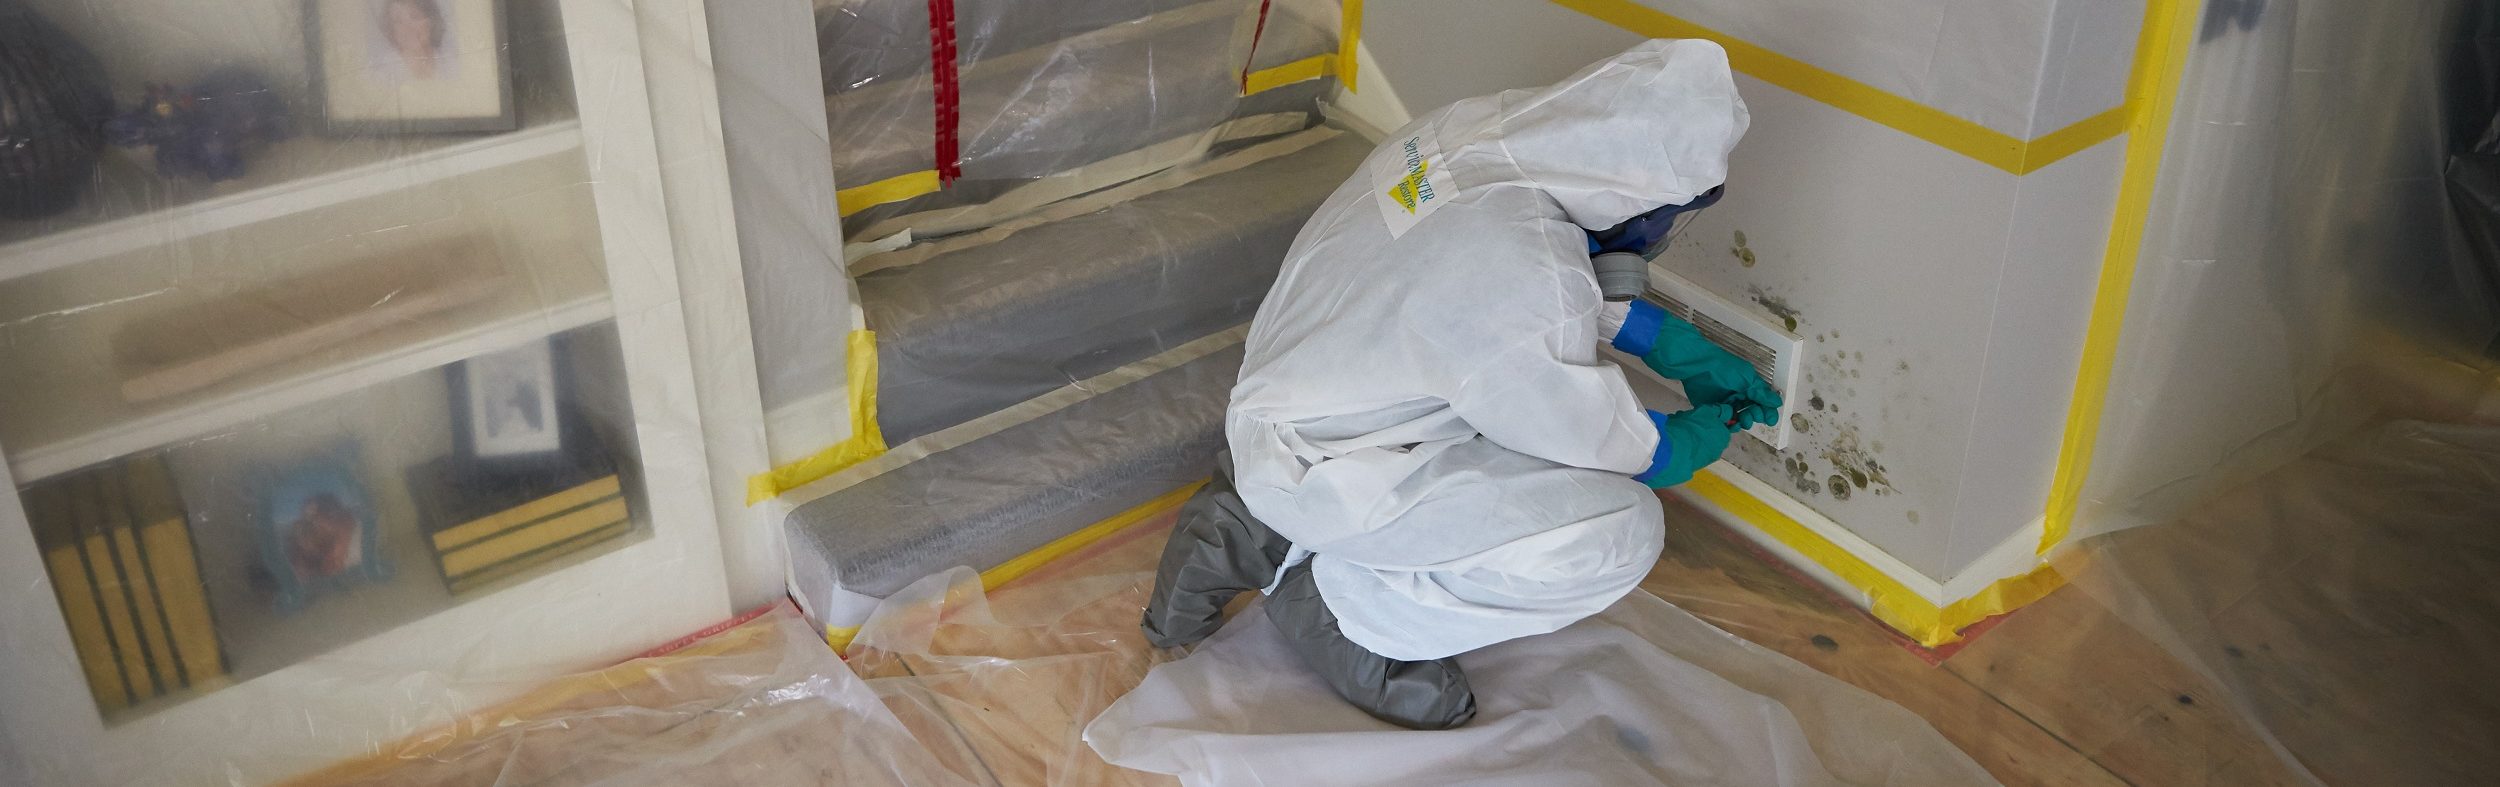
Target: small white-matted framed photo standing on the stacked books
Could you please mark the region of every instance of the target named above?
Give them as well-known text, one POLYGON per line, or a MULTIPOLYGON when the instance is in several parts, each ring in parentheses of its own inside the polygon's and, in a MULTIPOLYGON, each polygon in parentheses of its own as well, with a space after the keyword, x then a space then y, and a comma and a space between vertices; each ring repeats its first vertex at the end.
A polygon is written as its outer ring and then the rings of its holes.
POLYGON ((548 340, 452 365, 452 445, 475 465, 535 465, 565 450, 555 345, 548 340))

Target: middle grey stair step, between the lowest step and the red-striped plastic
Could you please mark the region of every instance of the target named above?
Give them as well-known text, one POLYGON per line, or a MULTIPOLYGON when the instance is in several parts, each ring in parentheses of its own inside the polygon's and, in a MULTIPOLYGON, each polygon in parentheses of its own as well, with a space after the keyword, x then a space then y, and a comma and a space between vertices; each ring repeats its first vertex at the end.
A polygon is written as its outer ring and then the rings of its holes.
POLYGON ((1342 135, 858 277, 885 435, 912 440, 1250 320, 1292 235, 1368 152, 1342 135))

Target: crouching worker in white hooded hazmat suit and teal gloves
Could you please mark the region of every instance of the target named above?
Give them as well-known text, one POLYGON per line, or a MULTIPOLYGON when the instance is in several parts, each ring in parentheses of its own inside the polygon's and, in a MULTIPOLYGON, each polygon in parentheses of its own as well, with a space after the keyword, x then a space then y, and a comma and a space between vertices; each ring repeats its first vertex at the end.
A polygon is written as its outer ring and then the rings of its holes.
POLYGON ((1645 277, 1670 215, 1718 195, 1745 125, 1725 50, 1652 40, 1372 150, 1250 322, 1230 452, 1175 525, 1148 637, 1198 642, 1265 590, 1338 695, 1438 730, 1475 715, 1455 655, 1630 592, 1665 540, 1652 487, 1780 410, 1692 325, 1608 302, 1640 292, 1622 277, 1645 277), (1695 407, 1642 412, 1600 342, 1695 407))

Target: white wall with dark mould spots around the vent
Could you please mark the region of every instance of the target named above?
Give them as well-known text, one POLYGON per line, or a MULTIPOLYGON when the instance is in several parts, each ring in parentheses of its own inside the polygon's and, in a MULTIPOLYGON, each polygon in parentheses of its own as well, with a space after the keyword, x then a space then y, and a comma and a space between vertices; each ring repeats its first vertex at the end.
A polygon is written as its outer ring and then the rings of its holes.
MULTIPOLYGON (((1652 5, 2015 137, 2115 107, 2142 17, 2092 0, 1652 5)), ((1635 40, 1522 0, 1372 0, 1365 20, 1410 112, 1552 82, 1635 40)), ((1730 195, 1665 262, 1795 317, 1822 407, 1788 452, 1738 440, 1730 462, 1952 580, 2040 517, 2122 147, 2012 175, 1755 77, 1738 87, 1755 122, 1730 195)))

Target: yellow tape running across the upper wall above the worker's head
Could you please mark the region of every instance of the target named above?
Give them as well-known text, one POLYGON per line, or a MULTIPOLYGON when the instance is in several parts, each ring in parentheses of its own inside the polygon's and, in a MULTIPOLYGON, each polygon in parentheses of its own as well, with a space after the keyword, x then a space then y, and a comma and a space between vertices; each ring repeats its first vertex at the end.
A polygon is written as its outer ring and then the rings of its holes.
MULTIPOLYGON (((1772 52, 1762 45, 1718 32, 1690 20, 1668 15, 1662 10, 1632 2, 1632 0, 1552 0, 1555 5, 1578 10, 1600 22, 1632 30, 1648 37, 1705 37, 1728 50, 1728 65, 1752 75, 1755 80, 1778 85, 1782 90, 1820 100, 1842 112, 1875 120, 1905 135, 1928 140, 1930 145, 1960 152, 1990 167, 2030 175, 2075 152, 2090 150, 2092 145, 2108 142, 2125 130, 2128 105, 2135 102, 2130 90, 2128 102, 2100 115, 2078 120, 2055 132, 2018 140, 2015 135, 1955 117, 1945 110, 1920 105, 1915 100, 1885 92, 1875 85, 1850 80, 1845 75, 1815 67, 1805 60, 1772 52)), ((2148 35, 2155 12, 2165 5, 2180 5, 2175 0, 2152 0, 2145 12, 2148 35)), ((2140 55, 2142 50, 2138 50, 2140 55)))

